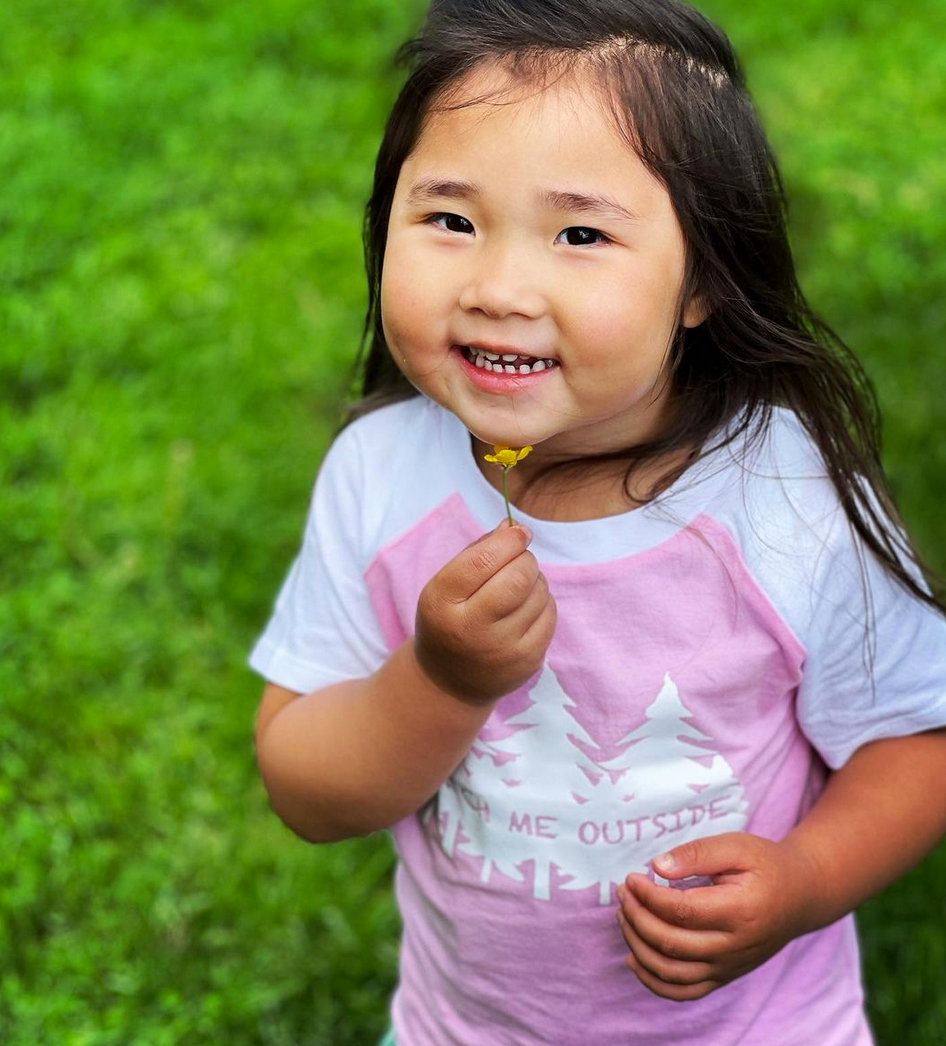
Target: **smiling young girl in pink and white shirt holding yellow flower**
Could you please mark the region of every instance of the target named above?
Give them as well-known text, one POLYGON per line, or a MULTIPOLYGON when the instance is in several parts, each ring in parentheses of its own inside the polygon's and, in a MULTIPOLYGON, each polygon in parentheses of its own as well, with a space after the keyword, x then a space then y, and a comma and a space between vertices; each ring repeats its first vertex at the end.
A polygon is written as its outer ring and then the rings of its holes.
POLYGON ((391 829, 398 1046, 870 1043, 850 913, 946 829, 946 624, 729 45, 438 0, 407 56, 365 399, 251 659, 273 806, 391 829))

